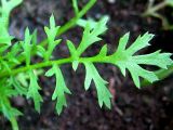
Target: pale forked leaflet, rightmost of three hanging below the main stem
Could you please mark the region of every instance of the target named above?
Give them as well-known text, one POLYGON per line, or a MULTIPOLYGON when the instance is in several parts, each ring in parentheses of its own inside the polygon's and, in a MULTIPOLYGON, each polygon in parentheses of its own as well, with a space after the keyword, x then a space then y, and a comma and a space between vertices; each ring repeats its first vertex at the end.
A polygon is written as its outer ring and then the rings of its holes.
POLYGON ((91 81, 93 80, 96 87, 98 103, 102 107, 105 104, 108 108, 110 108, 110 99, 112 98, 109 90, 107 89, 105 81, 98 74, 97 69, 93 65, 93 63, 84 63, 86 69, 86 76, 84 80, 84 88, 88 90, 90 88, 91 81))

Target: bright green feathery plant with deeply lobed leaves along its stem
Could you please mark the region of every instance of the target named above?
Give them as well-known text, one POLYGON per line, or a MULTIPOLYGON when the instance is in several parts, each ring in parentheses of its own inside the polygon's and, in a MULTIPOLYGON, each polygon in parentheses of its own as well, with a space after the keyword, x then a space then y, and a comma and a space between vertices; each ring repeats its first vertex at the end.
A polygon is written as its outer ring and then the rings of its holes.
MULTIPOLYGON (((16 3, 21 2, 18 0, 2 0, 1 2, 5 2, 2 6, 4 9, 5 6, 10 6, 12 1, 16 3)), ((50 67, 44 75, 46 77, 54 76, 56 79, 52 100, 56 102, 55 109, 59 115, 64 106, 67 106, 66 95, 71 94, 61 69, 64 64, 71 64, 75 72, 78 69, 79 64, 84 65, 85 80, 83 84, 85 90, 89 90, 93 81, 96 87, 99 106, 103 107, 103 105, 105 105, 111 108, 111 94, 106 86, 108 82, 102 78, 95 67, 95 63, 112 64, 119 67, 124 76, 125 69, 128 69, 137 88, 141 88, 141 77, 150 82, 158 80, 154 72, 143 68, 142 65, 154 65, 167 69, 167 66, 173 63, 170 58, 171 53, 157 51, 151 54, 136 54, 139 50, 149 46, 149 41, 154 37, 154 35, 149 32, 138 36, 131 46, 128 46, 130 32, 125 34, 120 39, 117 51, 112 54, 107 54, 108 50, 105 44, 98 54, 90 57, 81 56, 89 47, 103 40, 102 35, 107 30, 107 17, 94 22, 94 26, 92 26, 93 22, 84 21, 84 24, 82 24, 84 27, 83 36, 79 46, 76 47, 72 41, 67 40, 67 47, 70 53, 69 57, 52 60, 54 49, 58 47, 62 41, 62 39, 57 39, 57 36, 74 27, 95 2, 96 0, 89 1, 80 11, 77 0, 72 0, 76 16, 63 27, 56 26, 55 18, 52 15, 50 17, 50 26, 44 27, 48 39, 41 43, 37 43, 37 32, 30 34, 28 28, 25 30, 23 41, 12 43, 13 37, 9 35, 6 24, 0 24, 5 32, 0 36, 0 112, 11 121, 13 130, 18 130, 17 117, 21 116, 22 113, 11 105, 10 100, 12 98, 24 96, 28 100, 31 99, 36 110, 40 113, 43 99, 40 94, 41 87, 38 81, 39 69, 50 67), (34 63, 31 61, 36 54, 42 57, 42 62, 34 63)), ((8 22, 8 20, 5 21, 8 22)))

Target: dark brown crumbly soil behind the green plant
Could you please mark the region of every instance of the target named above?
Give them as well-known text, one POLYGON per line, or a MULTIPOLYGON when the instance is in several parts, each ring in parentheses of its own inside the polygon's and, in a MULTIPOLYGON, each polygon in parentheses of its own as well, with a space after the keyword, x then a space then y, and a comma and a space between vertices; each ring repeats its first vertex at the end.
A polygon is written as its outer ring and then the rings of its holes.
MULTIPOLYGON (((105 42, 111 53, 117 48, 119 38, 127 31, 131 32, 131 41, 146 31, 156 35, 152 46, 144 50, 144 53, 158 49, 173 52, 173 32, 162 30, 161 22, 156 18, 141 17, 147 6, 147 0, 115 0, 115 3, 109 1, 98 0, 85 16, 94 20, 103 15, 110 17, 104 41, 90 48, 86 55, 97 53, 105 42)), ((81 0, 80 6, 85 2, 86 0, 81 0)), ((69 0, 25 0, 12 13, 10 31, 22 39, 26 26, 32 30, 37 28, 40 41, 45 37, 42 28, 48 25, 52 12, 58 25, 63 25, 74 15, 69 0)), ((64 34, 64 42, 54 55, 68 56, 65 40, 70 39, 78 43, 81 34, 82 29, 79 27, 64 34)), ((54 102, 51 101, 55 80, 41 76, 40 84, 44 100, 41 114, 36 113, 31 101, 23 98, 13 100, 14 105, 24 113, 24 116, 18 118, 21 130, 173 130, 173 77, 138 90, 130 76, 122 77, 115 66, 97 65, 97 68, 109 81, 108 88, 114 95, 110 110, 98 107, 94 86, 88 92, 84 91, 84 67, 81 66, 75 73, 70 65, 66 65, 63 72, 72 92, 67 96, 68 107, 61 116, 55 114, 54 102)), ((9 130, 10 123, 3 117, 0 117, 0 130, 9 130)))

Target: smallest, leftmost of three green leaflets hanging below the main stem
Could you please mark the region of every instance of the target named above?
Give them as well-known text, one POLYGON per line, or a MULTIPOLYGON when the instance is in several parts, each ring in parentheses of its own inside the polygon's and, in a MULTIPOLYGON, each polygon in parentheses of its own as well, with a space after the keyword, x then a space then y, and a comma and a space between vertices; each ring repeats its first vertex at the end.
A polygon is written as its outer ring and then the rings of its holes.
POLYGON ((29 89, 28 89, 28 93, 27 93, 27 99, 31 98, 34 99, 35 102, 35 108, 38 113, 40 113, 40 103, 43 102, 39 90, 41 90, 41 88, 39 87, 38 82, 37 82, 37 77, 34 74, 32 70, 29 70, 29 77, 30 77, 30 83, 29 83, 29 89))

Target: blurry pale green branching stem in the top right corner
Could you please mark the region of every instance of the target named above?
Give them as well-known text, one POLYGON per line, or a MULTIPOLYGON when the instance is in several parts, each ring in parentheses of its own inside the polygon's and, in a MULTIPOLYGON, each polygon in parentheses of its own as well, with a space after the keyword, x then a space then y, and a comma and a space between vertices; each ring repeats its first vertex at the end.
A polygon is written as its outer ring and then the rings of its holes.
POLYGON ((173 29, 168 18, 159 13, 160 10, 171 6, 173 8, 173 0, 162 0, 160 3, 155 4, 155 0, 149 0, 147 10, 143 13, 143 16, 152 16, 161 20, 163 29, 173 29))

